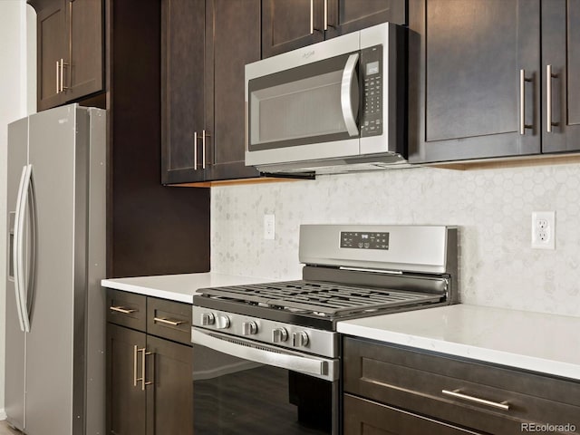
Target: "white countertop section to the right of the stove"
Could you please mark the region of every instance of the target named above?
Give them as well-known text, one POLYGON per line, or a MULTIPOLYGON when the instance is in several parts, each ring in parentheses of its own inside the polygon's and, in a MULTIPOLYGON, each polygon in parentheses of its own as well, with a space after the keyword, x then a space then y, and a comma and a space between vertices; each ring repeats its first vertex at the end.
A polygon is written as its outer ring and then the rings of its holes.
POLYGON ((457 304, 343 321, 338 332, 580 380, 580 317, 457 304))

